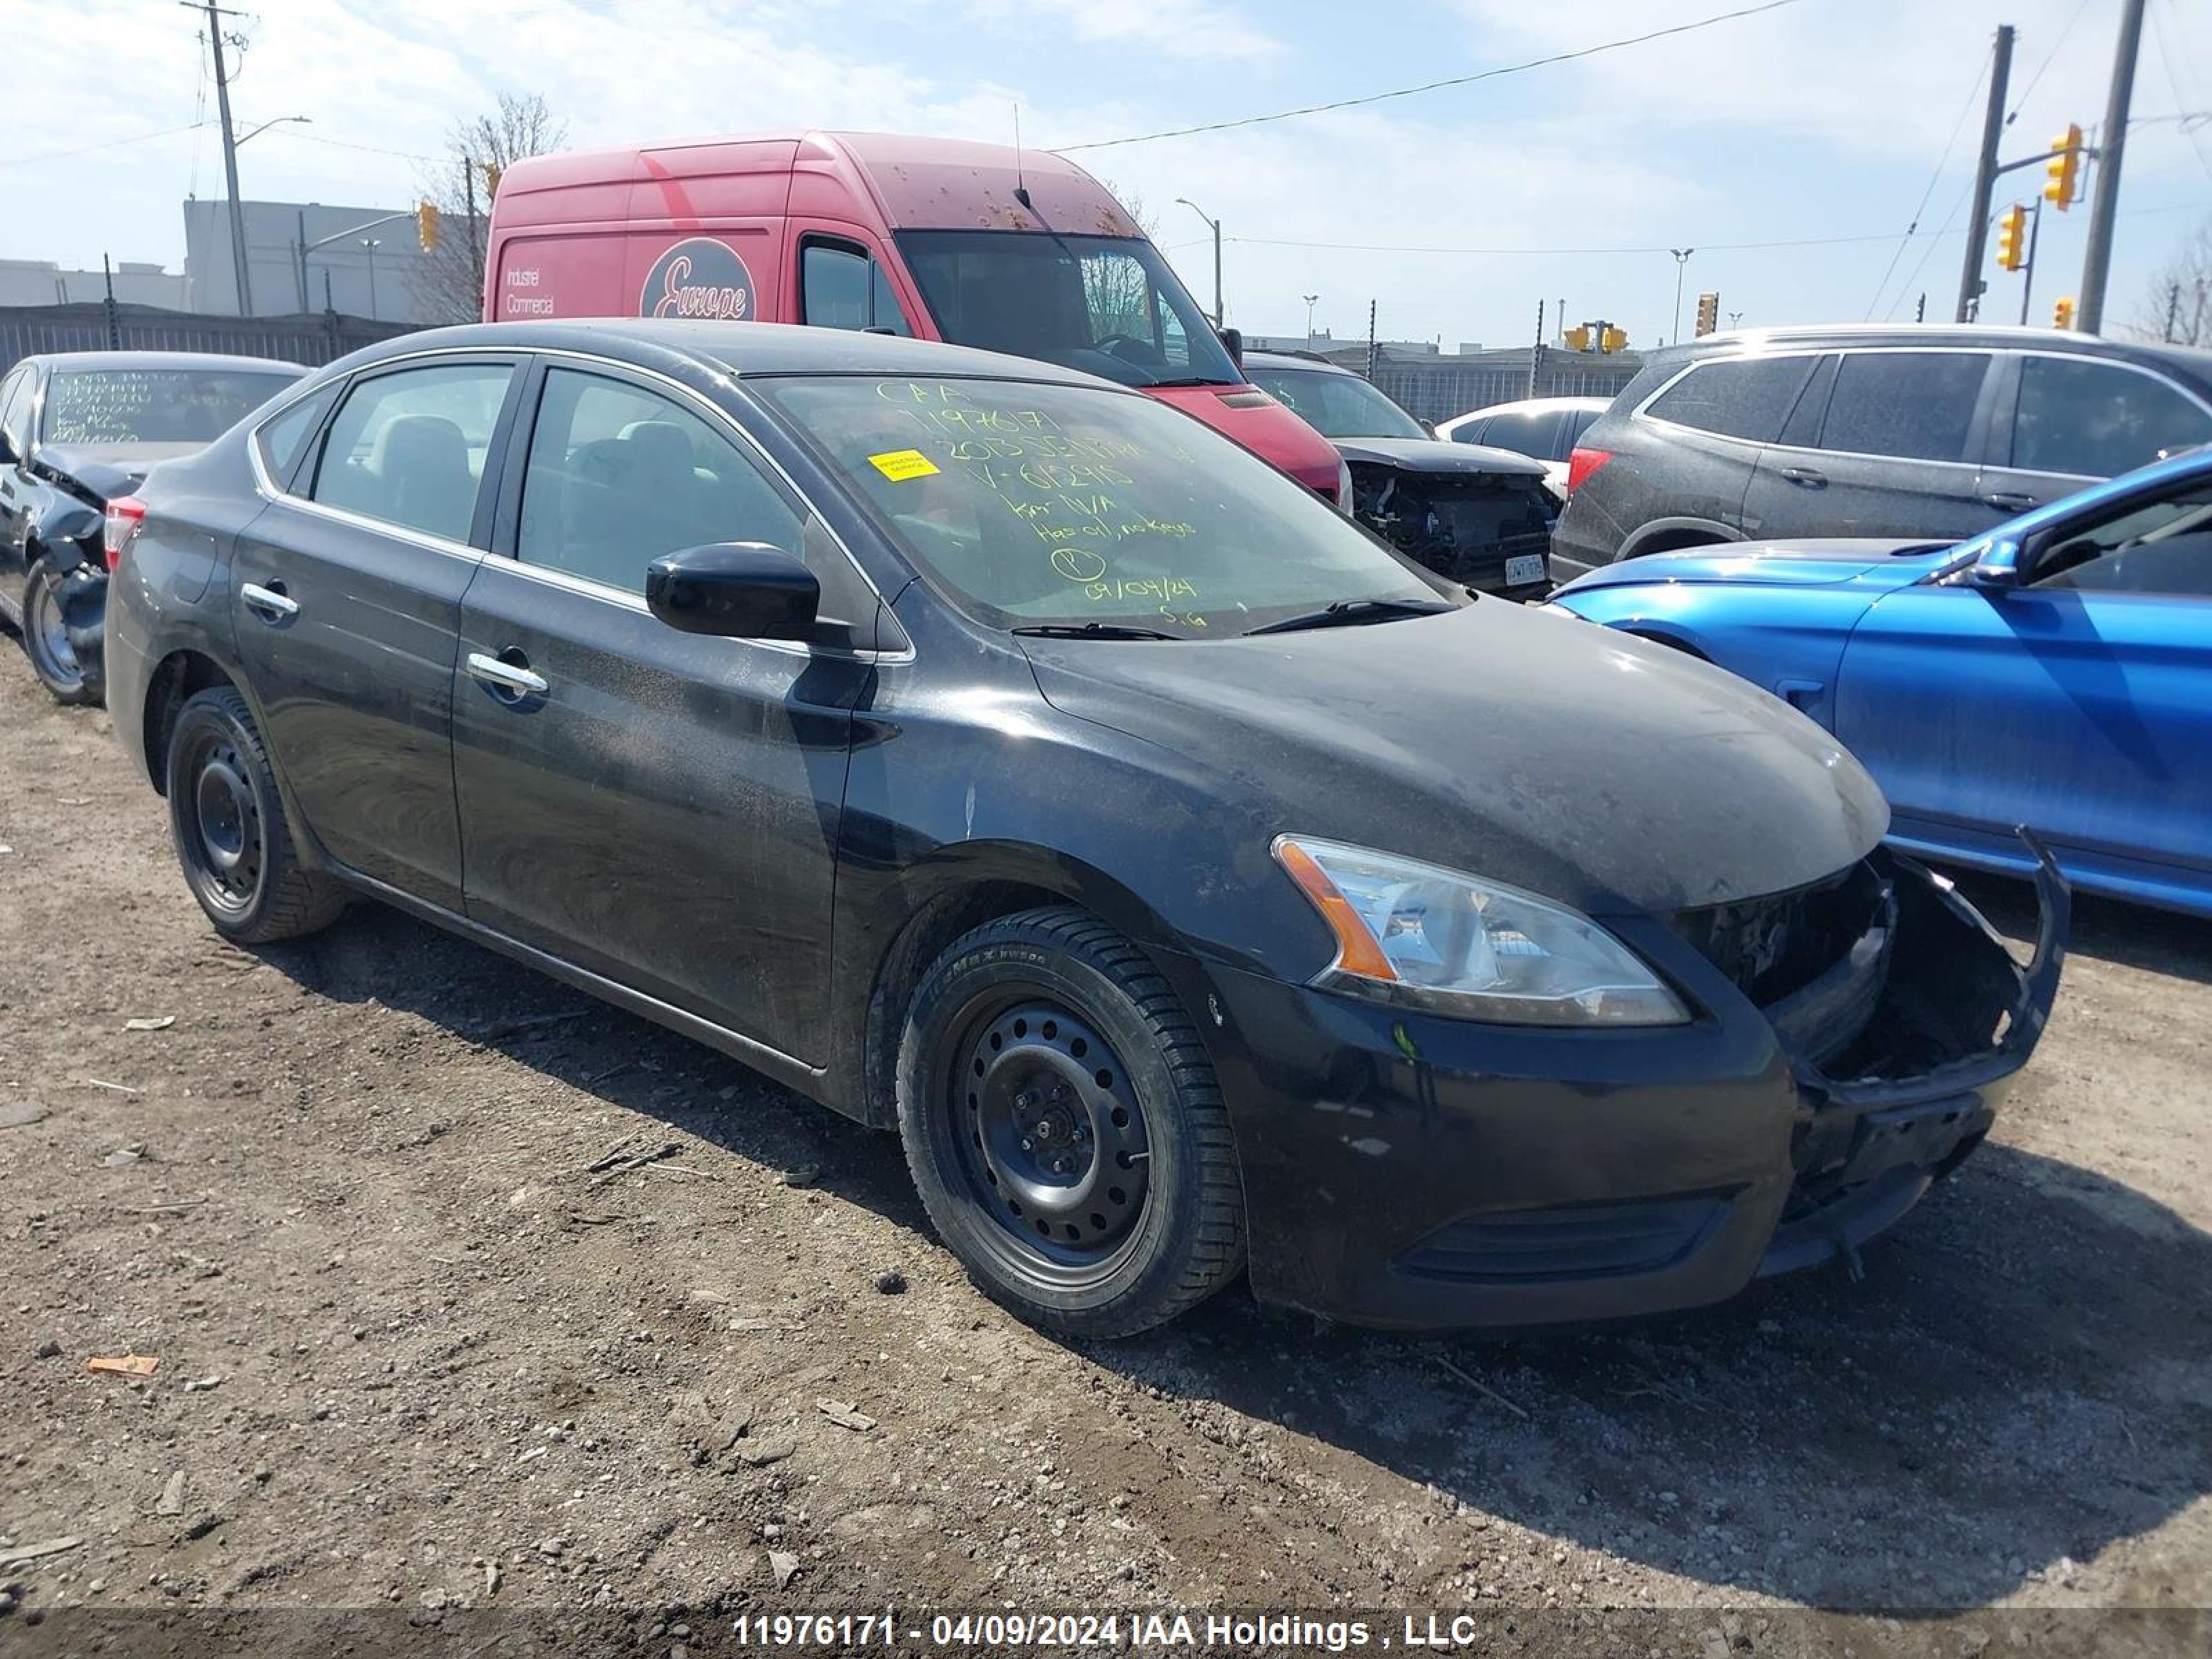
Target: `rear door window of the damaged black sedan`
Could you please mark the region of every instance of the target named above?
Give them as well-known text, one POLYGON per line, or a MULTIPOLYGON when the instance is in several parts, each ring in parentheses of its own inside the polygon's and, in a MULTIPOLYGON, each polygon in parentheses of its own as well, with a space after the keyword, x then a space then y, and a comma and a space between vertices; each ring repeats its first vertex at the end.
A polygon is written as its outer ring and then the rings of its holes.
POLYGON ((440 363, 356 380, 330 420, 312 500, 467 542, 507 363, 440 363))

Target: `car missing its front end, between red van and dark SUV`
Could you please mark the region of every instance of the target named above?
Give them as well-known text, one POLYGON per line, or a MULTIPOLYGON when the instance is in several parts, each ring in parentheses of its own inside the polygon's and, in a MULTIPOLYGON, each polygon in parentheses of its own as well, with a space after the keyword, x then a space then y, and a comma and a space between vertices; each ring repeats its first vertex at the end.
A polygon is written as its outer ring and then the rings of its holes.
POLYGON ((1431 438, 1358 374, 1298 352, 1245 352, 1245 374, 1352 469, 1352 515, 1438 575, 1540 599, 1553 502, 1544 467, 1506 449, 1431 438))

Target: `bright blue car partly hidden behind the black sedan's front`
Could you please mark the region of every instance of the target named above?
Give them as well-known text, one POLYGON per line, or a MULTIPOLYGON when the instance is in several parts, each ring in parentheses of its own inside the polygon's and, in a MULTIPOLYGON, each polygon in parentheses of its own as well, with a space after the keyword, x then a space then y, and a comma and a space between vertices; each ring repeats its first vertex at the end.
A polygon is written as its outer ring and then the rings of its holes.
POLYGON ((1889 841, 2212 916, 2212 449, 1971 542, 1732 542, 1553 604, 1783 697, 1882 785, 1889 841))

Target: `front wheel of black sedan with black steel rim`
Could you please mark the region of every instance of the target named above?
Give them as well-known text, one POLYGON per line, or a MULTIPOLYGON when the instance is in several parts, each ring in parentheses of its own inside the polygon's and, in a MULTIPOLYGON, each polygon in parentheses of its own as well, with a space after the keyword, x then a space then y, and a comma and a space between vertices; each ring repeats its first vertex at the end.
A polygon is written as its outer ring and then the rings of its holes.
POLYGON ((1237 1152, 1197 1026, 1086 911, 1006 916, 936 960, 900 1037, 898 1130, 938 1234, 1042 1329, 1130 1336, 1243 1267, 1237 1152))

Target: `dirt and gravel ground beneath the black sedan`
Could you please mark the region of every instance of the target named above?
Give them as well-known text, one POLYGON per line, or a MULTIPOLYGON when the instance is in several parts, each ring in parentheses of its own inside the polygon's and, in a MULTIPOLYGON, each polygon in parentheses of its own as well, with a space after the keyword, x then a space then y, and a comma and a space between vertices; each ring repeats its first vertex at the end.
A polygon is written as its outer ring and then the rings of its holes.
POLYGON ((374 905, 226 947, 11 641, 0 843, 0 1648, 71 1606, 653 1650, 1239 1606, 1732 1610, 1705 1652, 1887 1608, 1971 1655, 2212 1601, 2212 929, 2079 907, 1993 1141, 1863 1283, 1451 1343, 1239 1287, 1073 1347, 967 1285, 889 1137, 706 1048, 374 905))

